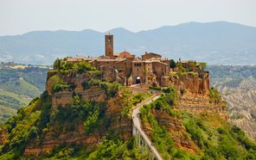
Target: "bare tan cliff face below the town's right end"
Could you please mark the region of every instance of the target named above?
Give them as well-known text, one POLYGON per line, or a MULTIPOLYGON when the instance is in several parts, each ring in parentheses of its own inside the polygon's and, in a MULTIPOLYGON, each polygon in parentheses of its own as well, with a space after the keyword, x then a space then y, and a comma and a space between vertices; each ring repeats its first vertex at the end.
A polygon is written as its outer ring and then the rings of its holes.
POLYGON ((209 75, 207 72, 186 73, 180 77, 170 77, 170 86, 178 91, 176 108, 194 114, 218 113, 227 119, 226 104, 211 103, 209 98, 209 75))

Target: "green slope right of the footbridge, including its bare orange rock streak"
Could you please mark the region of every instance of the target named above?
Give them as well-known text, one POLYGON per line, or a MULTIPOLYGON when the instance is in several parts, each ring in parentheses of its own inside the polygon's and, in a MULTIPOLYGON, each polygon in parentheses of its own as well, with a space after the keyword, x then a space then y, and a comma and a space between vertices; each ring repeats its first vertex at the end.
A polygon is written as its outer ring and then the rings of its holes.
POLYGON ((256 144, 221 114, 207 108, 191 114, 176 108, 176 101, 176 92, 166 92, 141 109, 144 130, 163 159, 255 158, 256 144))

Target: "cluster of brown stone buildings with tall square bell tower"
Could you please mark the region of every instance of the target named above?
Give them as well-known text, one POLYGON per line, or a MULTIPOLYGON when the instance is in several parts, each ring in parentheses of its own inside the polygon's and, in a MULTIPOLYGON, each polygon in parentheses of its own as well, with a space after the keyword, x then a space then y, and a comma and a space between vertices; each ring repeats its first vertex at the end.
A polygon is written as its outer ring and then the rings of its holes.
POLYGON ((170 60, 160 54, 145 52, 141 58, 131 52, 113 53, 113 35, 105 35, 105 55, 98 58, 77 56, 67 58, 68 62, 86 61, 102 71, 103 81, 118 81, 125 85, 152 83, 162 86, 163 77, 169 75, 170 60))

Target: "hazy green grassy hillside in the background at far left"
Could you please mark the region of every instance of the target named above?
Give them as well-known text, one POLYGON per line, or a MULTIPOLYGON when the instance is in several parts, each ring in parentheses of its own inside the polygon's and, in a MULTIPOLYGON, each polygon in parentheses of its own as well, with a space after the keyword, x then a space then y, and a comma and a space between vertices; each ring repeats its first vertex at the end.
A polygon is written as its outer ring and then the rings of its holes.
POLYGON ((0 70, 0 121, 15 115, 18 108, 27 106, 33 97, 42 93, 46 71, 40 68, 0 70))

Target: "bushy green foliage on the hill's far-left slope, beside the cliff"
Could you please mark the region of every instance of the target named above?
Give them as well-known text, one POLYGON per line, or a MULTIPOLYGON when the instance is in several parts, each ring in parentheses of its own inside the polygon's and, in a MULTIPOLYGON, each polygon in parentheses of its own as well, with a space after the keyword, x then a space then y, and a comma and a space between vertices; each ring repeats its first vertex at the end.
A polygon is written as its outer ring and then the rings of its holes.
POLYGON ((30 140, 40 145, 42 129, 49 121, 51 99, 47 93, 35 99, 27 108, 20 108, 17 115, 7 120, 3 128, 8 139, 0 150, 0 159, 17 159, 22 156, 25 146, 30 140))

